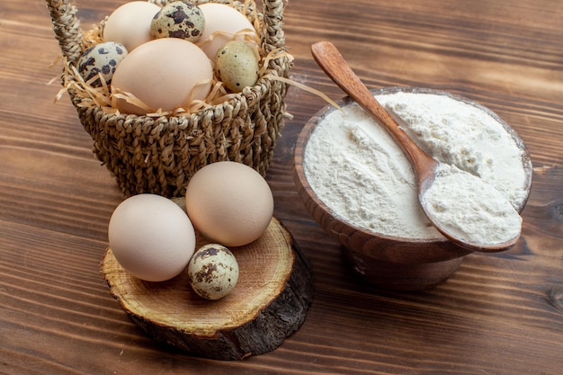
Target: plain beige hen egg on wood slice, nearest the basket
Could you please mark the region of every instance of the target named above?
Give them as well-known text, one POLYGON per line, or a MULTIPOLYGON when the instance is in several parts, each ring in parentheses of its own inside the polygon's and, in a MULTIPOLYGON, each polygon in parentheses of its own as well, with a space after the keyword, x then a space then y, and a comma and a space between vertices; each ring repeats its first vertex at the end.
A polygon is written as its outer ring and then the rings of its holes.
POLYGON ((262 236, 273 216, 273 194, 253 168, 232 161, 206 165, 185 193, 193 227, 222 246, 245 246, 262 236))

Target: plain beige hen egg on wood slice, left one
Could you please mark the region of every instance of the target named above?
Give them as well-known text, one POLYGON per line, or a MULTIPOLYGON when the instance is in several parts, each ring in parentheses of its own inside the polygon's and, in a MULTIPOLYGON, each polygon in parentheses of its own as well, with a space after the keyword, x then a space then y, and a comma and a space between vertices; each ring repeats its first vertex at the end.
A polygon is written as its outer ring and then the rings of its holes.
POLYGON ((122 201, 108 228, 113 255, 144 281, 166 281, 185 269, 195 250, 195 231, 186 213, 156 194, 122 201))

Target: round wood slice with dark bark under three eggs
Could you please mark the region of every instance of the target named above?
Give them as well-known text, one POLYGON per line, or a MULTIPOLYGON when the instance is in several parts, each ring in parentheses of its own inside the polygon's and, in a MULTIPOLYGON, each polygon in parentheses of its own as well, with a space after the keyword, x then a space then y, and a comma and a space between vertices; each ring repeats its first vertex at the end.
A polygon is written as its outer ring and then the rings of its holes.
MULTIPOLYGON (((209 240, 198 234, 197 246, 209 240)), ((237 287, 219 300, 201 299, 187 272, 170 281, 141 281, 108 248, 100 270, 131 319, 159 343, 187 353, 237 360, 272 351, 299 329, 313 298, 312 272, 290 233, 272 219, 255 242, 230 249, 237 287)))

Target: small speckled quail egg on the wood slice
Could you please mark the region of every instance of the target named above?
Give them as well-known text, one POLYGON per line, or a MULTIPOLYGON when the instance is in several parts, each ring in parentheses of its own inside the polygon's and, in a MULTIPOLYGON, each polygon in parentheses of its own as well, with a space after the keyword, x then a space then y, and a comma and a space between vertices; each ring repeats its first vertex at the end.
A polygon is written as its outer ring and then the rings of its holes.
POLYGON ((237 286, 237 258, 225 246, 201 246, 188 263, 188 277, 200 297, 221 299, 237 286))

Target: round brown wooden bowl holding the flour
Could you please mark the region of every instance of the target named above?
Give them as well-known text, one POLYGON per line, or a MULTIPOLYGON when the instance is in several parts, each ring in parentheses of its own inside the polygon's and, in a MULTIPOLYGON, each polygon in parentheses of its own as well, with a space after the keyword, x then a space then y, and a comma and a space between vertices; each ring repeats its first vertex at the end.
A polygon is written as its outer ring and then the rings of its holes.
MULTIPOLYGON (((523 210, 532 184, 532 163, 527 148, 514 129, 494 112, 458 95, 419 87, 390 87, 371 92, 377 95, 393 94, 398 91, 449 95, 453 99, 478 107, 501 123, 514 138, 518 147, 523 150, 523 168, 528 176, 526 199, 521 207, 518 207, 519 212, 523 210)), ((344 97, 338 105, 345 106, 352 102, 349 97, 344 97)), ((303 167, 308 138, 317 124, 332 111, 337 110, 333 106, 326 106, 317 112, 300 131, 297 139, 294 179, 299 197, 306 209, 321 228, 343 245, 345 259, 363 280, 392 290, 425 290, 445 281, 458 269, 463 257, 471 253, 470 250, 454 245, 445 237, 435 239, 393 237, 360 228, 336 216, 309 185, 303 167)))

